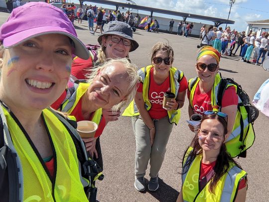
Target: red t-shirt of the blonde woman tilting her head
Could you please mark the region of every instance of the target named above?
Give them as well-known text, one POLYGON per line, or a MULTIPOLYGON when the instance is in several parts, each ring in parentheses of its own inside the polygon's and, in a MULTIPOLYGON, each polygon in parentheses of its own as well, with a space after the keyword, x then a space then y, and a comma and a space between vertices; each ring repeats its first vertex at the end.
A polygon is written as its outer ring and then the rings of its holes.
MULTIPOLYGON (((62 94, 62 95, 63 95, 63 94, 62 94)), ((61 96, 62 96, 62 95, 61 95, 61 96)), ((52 107, 53 109, 55 109, 55 110, 59 109, 59 107, 60 107, 61 104, 62 104, 62 100, 63 100, 63 99, 62 99, 61 97, 59 97, 58 100, 56 100, 56 101, 51 105, 51 107, 52 107), (58 107, 57 107, 57 106, 58 106, 58 107)), ((85 120, 85 118, 83 117, 83 114, 82 114, 82 99, 80 99, 80 100, 78 101, 78 104, 77 104, 76 107, 73 109, 73 111, 70 113, 70 115, 71 115, 71 116, 74 116, 74 117, 76 118, 76 121, 77 121, 77 122, 78 122, 78 121, 83 121, 83 120, 85 120)), ((92 113, 92 114, 90 115, 89 121, 92 120, 92 116, 93 116, 93 115, 94 115, 94 113, 92 113)), ((105 127, 106 127, 106 119, 105 119, 105 117, 103 116, 102 119, 101 119, 101 121, 100 121, 100 123, 99 123, 99 125, 98 125, 98 129, 96 130, 96 132, 95 132, 95 136, 94 136, 94 137, 99 137, 99 136, 103 133, 105 127)))

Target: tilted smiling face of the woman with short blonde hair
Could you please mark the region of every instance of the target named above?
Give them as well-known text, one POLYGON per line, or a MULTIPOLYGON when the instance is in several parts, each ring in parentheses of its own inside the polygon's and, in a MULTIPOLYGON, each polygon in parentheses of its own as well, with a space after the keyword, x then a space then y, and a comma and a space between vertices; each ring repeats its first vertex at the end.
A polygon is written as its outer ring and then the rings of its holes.
POLYGON ((122 63, 115 62, 105 67, 95 77, 88 89, 89 101, 98 108, 109 109, 126 99, 128 73, 122 63))

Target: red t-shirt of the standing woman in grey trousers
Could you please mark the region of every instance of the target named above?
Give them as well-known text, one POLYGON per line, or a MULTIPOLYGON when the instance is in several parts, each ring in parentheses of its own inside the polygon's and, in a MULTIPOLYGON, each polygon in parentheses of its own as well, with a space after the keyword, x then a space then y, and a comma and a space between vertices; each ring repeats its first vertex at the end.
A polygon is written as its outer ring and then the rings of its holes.
MULTIPOLYGON (((150 78, 153 78, 153 68, 150 69, 150 78)), ((178 92, 183 92, 188 88, 188 82, 185 76, 179 82, 180 86, 178 92)), ((150 79, 148 99, 151 103, 151 108, 148 111, 152 119, 162 119, 167 116, 167 111, 162 108, 163 96, 166 91, 170 91, 170 77, 168 76, 165 81, 158 85, 154 79, 150 79)), ((143 91, 143 83, 139 83, 137 92, 143 91)))

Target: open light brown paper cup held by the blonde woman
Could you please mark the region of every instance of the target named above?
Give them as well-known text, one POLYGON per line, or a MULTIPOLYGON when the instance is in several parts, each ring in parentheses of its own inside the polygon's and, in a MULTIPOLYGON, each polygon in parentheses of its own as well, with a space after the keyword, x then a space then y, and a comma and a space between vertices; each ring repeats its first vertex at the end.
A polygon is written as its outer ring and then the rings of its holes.
POLYGON ((77 122, 77 131, 81 138, 93 138, 98 125, 93 121, 77 122))

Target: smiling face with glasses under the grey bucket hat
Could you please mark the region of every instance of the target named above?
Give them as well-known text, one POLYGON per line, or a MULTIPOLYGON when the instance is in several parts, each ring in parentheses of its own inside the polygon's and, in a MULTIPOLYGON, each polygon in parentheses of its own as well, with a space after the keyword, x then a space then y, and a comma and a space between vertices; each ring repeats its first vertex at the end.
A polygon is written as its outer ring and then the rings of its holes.
MULTIPOLYGON (((112 41, 111 36, 112 35, 102 37, 102 45, 106 47, 106 50, 105 50, 106 57, 112 58, 112 59, 127 57, 132 45, 130 46, 124 45, 123 40, 120 40, 120 42, 115 43, 112 41)), ((124 37, 118 36, 118 35, 114 35, 114 36, 117 36, 121 39, 130 40, 130 39, 126 39, 124 37)))

